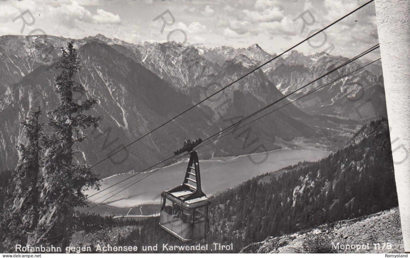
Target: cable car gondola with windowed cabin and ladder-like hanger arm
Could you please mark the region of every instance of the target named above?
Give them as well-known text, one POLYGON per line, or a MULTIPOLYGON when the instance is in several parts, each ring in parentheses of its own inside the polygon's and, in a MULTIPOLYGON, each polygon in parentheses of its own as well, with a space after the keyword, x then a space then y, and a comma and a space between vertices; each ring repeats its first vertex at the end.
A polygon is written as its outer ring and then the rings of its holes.
POLYGON ((174 154, 191 154, 184 181, 169 191, 162 192, 159 225, 182 242, 201 240, 208 234, 210 201, 201 190, 198 154, 193 148, 201 143, 186 140, 184 147, 174 154))

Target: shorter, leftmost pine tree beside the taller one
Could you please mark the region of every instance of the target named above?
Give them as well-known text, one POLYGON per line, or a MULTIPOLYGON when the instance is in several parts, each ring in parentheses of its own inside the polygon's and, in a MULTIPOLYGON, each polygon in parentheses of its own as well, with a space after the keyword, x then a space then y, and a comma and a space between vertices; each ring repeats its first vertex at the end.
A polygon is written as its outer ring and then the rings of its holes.
POLYGON ((1 218, 1 240, 6 246, 26 244, 27 237, 32 234, 39 219, 40 139, 43 136, 40 115, 38 107, 37 111, 21 122, 28 143, 16 146, 20 160, 11 177, 1 218))

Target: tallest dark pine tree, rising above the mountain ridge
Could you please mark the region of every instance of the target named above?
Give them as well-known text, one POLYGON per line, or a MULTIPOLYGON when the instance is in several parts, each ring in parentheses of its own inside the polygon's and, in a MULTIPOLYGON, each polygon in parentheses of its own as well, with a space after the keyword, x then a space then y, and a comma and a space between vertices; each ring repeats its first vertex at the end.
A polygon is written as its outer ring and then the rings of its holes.
POLYGON ((75 82, 81 69, 80 60, 73 43, 66 49, 61 48, 62 59, 55 66, 60 74, 55 77, 55 92, 59 106, 48 112, 50 135, 43 137, 45 154, 43 158, 43 183, 41 186, 41 217, 33 244, 42 242, 67 245, 71 235, 74 207, 87 206, 83 190, 97 188, 98 176, 91 172, 88 165, 75 160, 79 150, 77 143, 82 142, 88 127, 98 127, 99 118, 85 115, 96 103, 87 99, 80 103, 76 95, 84 95, 84 86, 75 82))

